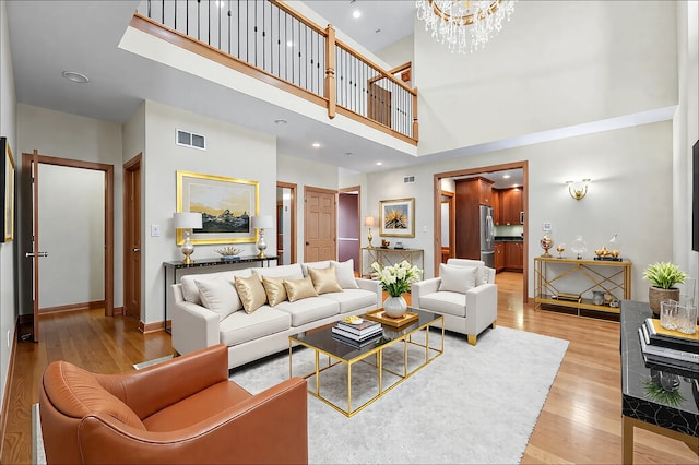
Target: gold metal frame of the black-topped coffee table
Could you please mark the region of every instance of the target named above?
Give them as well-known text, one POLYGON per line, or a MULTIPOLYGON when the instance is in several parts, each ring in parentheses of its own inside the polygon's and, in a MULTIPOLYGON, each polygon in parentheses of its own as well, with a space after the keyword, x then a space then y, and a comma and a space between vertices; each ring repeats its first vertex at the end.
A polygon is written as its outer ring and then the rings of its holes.
MULTIPOLYGON (((439 357, 445 351, 445 330, 443 330, 443 317, 435 313, 430 313, 424 310, 417 310, 408 308, 408 311, 417 313, 418 319, 412 323, 402 327, 394 327, 389 324, 382 324, 382 336, 372 344, 369 344, 362 348, 356 348, 352 345, 333 338, 332 326, 335 324, 325 325, 323 327, 308 331, 305 333, 295 334, 288 338, 288 375, 294 375, 294 349, 298 346, 308 347, 313 350, 315 370, 304 375, 308 379, 315 378, 315 382, 308 383, 308 393, 323 401, 337 412, 343 413, 347 417, 352 417, 358 412, 372 404, 375 401, 383 396, 387 392, 391 391, 396 385, 415 374, 423 367, 427 366, 435 358, 439 357), (439 333, 430 332, 430 326, 436 326, 438 323, 439 333), (439 335, 441 337, 433 337, 438 339, 436 345, 430 344, 430 335, 439 335), (420 351, 424 350, 424 358, 419 356, 419 361, 416 367, 408 367, 408 347, 416 347, 420 351), (396 368, 384 366, 384 353, 396 357, 402 349, 402 367, 399 362, 396 368), (370 398, 365 400, 353 407, 352 398, 352 369, 357 363, 367 363, 371 367, 371 372, 375 377, 371 377, 376 382, 376 394, 370 398), (325 395, 321 394, 321 374, 325 377, 332 377, 333 372, 328 371, 333 367, 344 365, 346 366, 346 405, 339 405, 325 395), (384 377, 388 380, 384 380, 384 377), (386 382, 384 382, 386 381, 386 382), (386 384, 386 385, 384 385, 386 384), (315 386, 315 389, 313 389, 315 386)), ((415 351, 412 353, 413 356, 415 351)), ((413 357, 414 358, 414 357, 413 357)), ((366 366, 363 366, 366 367, 366 366)), ((336 373, 335 373, 336 374, 336 373)), ((298 374, 297 374, 298 375, 298 374)), ((329 382, 336 381, 329 379, 329 382)), ((360 380, 363 383, 366 379, 360 380)), ((344 404, 344 400, 342 402, 344 404)))

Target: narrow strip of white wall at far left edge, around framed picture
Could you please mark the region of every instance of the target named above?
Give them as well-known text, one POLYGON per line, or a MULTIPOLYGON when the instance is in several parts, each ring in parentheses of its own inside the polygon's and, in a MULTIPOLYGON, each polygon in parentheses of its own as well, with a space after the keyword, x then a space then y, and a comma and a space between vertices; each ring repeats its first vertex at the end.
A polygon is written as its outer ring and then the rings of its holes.
MULTIPOLYGON (((0 1, 0 135, 8 138, 16 165, 16 98, 4 1, 0 1)), ((16 240, 0 243, 0 405, 4 397, 11 339, 14 337, 17 315, 13 260, 15 248, 16 240)))

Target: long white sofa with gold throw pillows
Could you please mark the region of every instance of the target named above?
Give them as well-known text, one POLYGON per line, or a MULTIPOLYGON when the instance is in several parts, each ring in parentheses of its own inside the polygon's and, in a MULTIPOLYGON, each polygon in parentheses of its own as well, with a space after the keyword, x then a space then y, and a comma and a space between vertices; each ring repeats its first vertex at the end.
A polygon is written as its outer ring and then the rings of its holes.
POLYGON ((288 348, 292 334, 380 308, 382 298, 378 281, 354 277, 352 261, 185 275, 171 291, 175 350, 223 343, 229 369, 288 348))

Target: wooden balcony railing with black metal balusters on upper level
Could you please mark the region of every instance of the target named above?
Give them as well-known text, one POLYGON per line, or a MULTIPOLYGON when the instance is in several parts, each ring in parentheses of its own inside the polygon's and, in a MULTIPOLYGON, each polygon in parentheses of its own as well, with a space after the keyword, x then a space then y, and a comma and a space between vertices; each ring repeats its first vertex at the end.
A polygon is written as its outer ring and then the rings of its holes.
POLYGON ((276 0, 145 0, 131 26, 417 144, 417 90, 276 0))

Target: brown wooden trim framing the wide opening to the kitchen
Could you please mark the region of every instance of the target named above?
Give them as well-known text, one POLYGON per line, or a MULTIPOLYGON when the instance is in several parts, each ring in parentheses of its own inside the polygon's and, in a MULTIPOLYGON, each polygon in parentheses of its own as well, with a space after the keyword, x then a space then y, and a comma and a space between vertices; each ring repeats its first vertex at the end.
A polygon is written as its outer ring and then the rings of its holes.
MULTIPOLYGON (((528 175, 528 162, 514 162, 510 164, 502 165, 494 165, 494 166, 485 166, 479 168, 470 168, 470 169, 461 169, 455 171, 447 171, 447 172, 438 172, 434 175, 434 188, 435 188, 435 198, 434 198, 434 228, 435 228, 435 245, 434 245, 434 273, 435 276, 439 275, 439 263, 442 260, 442 215, 441 215, 441 203, 443 200, 445 192, 451 191, 451 189, 447 189, 447 186, 451 186, 454 183, 455 179, 460 178, 469 178, 476 176, 485 176, 488 174, 495 174, 499 171, 508 171, 508 170, 518 170, 521 172, 522 179, 522 189, 521 189, 521 205, 522 205, 522 217, 528 217, 528 193, 526 183, 529 179, 528 175)), ((459 202, 459 199, 455 198, 455 203, 459 202)), ((454 208, 458 210, 458 208, 454 208)), ((522 225, 522 237, 524 240, 521 243, 522 247, 522 261, 524 264, 529 263, 529 250, 528 250, 528 241, 525 238, 528 237, 528 224, 523 222, 522 225)), ((528 301, 528 283, 529 283, 529 271, 528 266, 524 265, 522 267, 522 298, 523 301, 528 301)))

